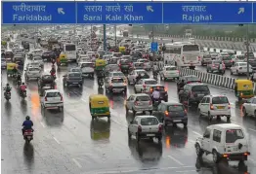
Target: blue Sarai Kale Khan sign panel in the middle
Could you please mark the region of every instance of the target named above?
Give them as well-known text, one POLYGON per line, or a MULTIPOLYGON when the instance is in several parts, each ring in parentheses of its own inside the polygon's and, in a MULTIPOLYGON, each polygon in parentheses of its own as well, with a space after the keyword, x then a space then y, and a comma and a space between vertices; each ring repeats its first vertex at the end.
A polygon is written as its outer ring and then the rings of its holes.
POLYGON ((77 23, 162 23, 162 3, 77 2, 77 23))

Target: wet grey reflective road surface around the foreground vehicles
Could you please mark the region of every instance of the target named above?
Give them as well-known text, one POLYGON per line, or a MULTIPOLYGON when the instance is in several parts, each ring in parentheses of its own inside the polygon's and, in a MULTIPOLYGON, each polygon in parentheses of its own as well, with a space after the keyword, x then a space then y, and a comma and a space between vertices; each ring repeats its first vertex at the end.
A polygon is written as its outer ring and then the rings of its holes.
MULTIPOLYGON (((45 64, 45 71, 50 70, 45 64)), ((248 134, 251 156, 245 166, 237 167, 220 163, 215 165, 212 157, 197 158, 194 150, 195 139, 203 134, 209 124, 206 119, 198 118, 195 110, 189 110, 188 128, 183 125, 169 127, 164 132, 162 143, 128 140, 127 125, 133 119, 125 114, 124 94, 108 96, 111 119, 92 122, 88 96, 98 91, 95 80, 86 79, 81 89, 64 89, 62 67, 57 74, 57 87, 64 93, 64 112, 41 111, 40 96, 36 81, 27 84, 28 97, 21 101, 13 81, 2 74, 2 87, 9 82, 13 87, 12 99, 2 98, 2 173, 3 174, 69 174, 69 173, 186 173, 186 174, 228 174, 256 173, 256 121, 243 118, 238 104, 232 103, 231 122, 242 125, 248 134), (26 145, 21 136, 21 123, 29 115, 34 122, 34 139, 26 145), (238 170, 241 170, 238 172, 238 170)), ((165 82, 169 101, 178 101, 176 84, 165 82)), ((226 94, 235 101, 231 90, 210 86, 212 94, 226 94)), ((133 93, 129 87, 127 95, 133 93)), ((223 119, 219 122, 226 122, 223 119)), ((217 123, 214 120, 211 123, 217 123)))

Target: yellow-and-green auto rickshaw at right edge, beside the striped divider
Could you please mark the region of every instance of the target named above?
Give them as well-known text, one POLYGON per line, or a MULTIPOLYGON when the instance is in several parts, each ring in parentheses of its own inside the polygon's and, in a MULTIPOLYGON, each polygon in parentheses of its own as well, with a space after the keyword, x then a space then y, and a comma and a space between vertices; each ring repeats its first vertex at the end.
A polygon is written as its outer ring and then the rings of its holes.
POLYGON ((235 96, 238 101, 243 98, 251 98, 254 96, 253 93, 254 84, 250 80, 235 80, 235 96))

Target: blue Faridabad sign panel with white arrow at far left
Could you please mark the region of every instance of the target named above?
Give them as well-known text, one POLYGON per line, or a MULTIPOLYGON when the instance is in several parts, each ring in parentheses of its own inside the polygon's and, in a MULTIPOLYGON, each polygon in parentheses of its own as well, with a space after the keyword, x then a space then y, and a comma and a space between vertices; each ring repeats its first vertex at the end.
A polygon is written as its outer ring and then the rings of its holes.
POLYGON ((2 2, 3 24, 76 23, 74 2, 2 2))

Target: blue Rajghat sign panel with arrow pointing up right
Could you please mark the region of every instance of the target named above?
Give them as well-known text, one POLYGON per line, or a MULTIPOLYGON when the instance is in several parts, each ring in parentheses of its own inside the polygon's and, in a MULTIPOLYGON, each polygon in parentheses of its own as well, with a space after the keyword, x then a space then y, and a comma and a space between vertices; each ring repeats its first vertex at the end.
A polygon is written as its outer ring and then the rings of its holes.
POLYGON ((164 3, 163 23, 251 23, 252 3, 164 3))

